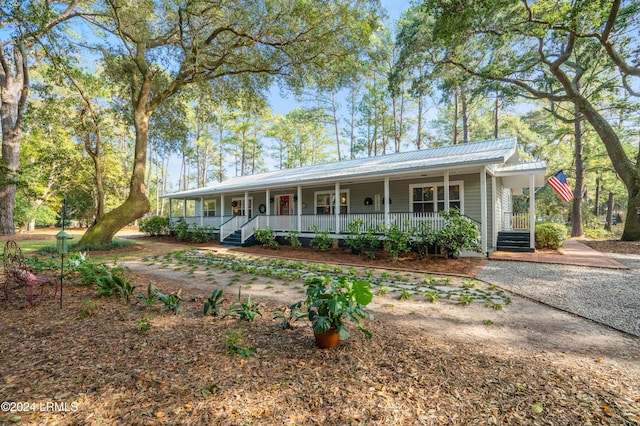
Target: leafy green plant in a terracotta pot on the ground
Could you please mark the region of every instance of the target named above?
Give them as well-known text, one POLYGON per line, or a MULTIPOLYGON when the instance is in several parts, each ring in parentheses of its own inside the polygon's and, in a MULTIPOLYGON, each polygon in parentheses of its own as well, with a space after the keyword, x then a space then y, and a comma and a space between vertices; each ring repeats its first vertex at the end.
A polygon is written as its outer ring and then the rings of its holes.
POLYGON ((366 311, 366 306, 373 300, 371 283, 345 276, 313 277, 305 282, 305 286, 307 299, 304 304, 318 347, 330 349, 340 339, 348 339, 346 320, 356 323, 365 337, 371 338, 371 332, 360 324, 361 318, 372 318, 366 311))

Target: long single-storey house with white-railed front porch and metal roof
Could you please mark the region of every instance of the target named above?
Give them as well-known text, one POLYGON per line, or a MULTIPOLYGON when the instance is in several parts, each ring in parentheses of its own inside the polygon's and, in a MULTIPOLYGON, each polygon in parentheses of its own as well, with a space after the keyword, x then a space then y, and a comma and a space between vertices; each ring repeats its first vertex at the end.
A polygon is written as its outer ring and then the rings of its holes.
POLYGON ((503 138, 241 176, 206 188, 165 195, 172 220, 218 230, 221 242, 247 243, 255 229, 277 233, 329 231, 343 238, 349 223, 396 224, 409 229, 456 207, 476 221, 483 250, 498 233, 529 235, 535 247, 535 188, 544 185, 543 162, 518 161, 517 141, 503 138), (512 195, 529 188, 527 216, 512 213, 512 195))

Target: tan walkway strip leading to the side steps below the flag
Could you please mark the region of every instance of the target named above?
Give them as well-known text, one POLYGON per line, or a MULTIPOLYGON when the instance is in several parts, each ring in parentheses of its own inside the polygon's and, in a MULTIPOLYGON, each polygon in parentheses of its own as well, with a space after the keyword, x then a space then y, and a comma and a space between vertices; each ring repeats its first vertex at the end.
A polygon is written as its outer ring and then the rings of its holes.
POLYGON ((629 269, 605 253, 593 250, 577 240, 567 240, 557 252, 535 251, 533 253, 515 253, 494 251, 491 260, 514 260, 519 262, 557 263, 562 265, 591 266, 596 268, 629 269))

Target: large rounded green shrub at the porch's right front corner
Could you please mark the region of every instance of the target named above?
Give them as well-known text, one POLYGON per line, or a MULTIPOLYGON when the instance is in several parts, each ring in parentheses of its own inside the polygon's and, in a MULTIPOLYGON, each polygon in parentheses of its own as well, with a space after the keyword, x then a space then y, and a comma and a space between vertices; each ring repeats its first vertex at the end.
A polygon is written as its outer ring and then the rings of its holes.
POLYGON ((462 250, 482 253, 480 228, 471 219, 461 216, 458 209, 440 212, 446 225, 435 236, 441 253, 457 258, 462 250))

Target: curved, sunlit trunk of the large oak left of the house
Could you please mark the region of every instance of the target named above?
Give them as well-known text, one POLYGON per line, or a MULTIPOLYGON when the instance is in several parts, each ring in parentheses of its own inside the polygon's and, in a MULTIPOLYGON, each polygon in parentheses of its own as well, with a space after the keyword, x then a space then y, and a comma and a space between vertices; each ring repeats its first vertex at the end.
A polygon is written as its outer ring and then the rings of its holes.
POLYGON ((149 132, 149 116, 147 114, 147 97, 151 81, 145 81, 138 96, 133 112, 133 123, 136 130, 133 171, 129 184, 129 196, 120 206, 104 214, 95 225, 84 233, 78 246, 106 246, 111 244, 115 234, 129 223, 141 218, 151 209, 146 195, 144 174, 147 165, 147 135, 149 132))

